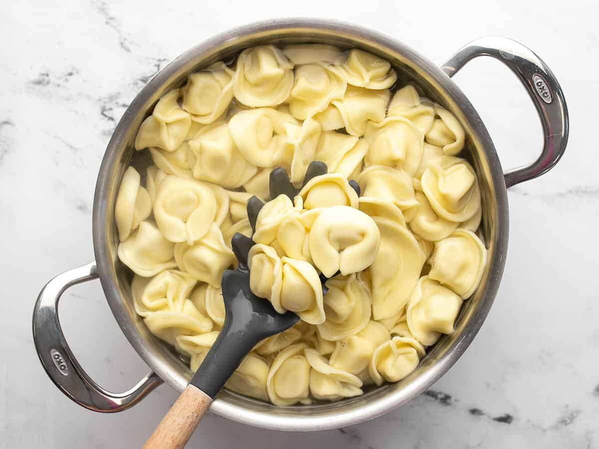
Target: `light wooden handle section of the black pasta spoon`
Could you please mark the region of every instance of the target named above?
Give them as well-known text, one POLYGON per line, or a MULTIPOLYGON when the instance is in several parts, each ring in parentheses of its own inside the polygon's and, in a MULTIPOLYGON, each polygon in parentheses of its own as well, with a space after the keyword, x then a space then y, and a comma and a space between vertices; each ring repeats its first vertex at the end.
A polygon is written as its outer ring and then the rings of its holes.
POLYGON ((210 396, 189 384, 150 435, 144 449, 184 447, 211 402, 210 396))

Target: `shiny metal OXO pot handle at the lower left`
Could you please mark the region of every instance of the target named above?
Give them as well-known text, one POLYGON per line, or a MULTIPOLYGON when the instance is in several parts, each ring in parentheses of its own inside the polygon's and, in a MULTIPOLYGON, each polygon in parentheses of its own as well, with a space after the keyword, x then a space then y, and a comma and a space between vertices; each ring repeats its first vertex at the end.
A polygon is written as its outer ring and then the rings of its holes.
POLYGON ((68 398, 93 411, 118 412, 137 404, 162 380, 149 372, 131 390, 111 393, 96 384, 75 359, 60 328, 58 302, 69 287, 96 278, 96 263, 91 262, 59 274, 46 284, 35 302, 34 343, 50 379, 68 398))

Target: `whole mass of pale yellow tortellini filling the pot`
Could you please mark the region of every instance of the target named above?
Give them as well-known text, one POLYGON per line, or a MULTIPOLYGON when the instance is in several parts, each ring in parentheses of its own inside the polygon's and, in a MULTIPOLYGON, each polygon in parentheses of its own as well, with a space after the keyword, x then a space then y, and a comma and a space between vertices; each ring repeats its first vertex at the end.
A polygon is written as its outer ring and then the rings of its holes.
POLYGON ((141 123, 148 163, 123 174, 117 254, 136 313, 191 371, 225 324, 236 233, 255 242, 250 290, 300 320, 252 348, 232 392, 352 398, 408 377, 460 329, 488 257, 479 181, 458 118, 397 80, 364 50, 261 45, 190 73, 141 123), (313 161, 326 172, 305 178, 313 161), (294 197, 271 198, 277 167, 294 197))

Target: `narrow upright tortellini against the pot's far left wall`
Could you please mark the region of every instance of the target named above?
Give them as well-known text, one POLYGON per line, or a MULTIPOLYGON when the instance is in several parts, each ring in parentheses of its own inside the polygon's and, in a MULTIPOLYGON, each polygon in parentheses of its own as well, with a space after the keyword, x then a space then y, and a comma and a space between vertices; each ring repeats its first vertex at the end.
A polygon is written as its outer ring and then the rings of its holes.
POLYGON ((137 229, 152 213, 152 199, 148 191, 140 185, 140 181, 137 170, 128 167, 120 183, 114 206, 114 220, 119 230, 120 241, 125 241, 131 235, 131 231, 137 229))

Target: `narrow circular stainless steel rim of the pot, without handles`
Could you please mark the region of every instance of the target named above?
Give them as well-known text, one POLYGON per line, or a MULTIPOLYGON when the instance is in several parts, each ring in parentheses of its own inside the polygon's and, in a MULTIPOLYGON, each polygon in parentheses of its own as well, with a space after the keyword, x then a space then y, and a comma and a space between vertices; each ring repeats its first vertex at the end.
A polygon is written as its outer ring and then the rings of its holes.
MULTIPOLYGON (((353 406, 346 411, 341 412, 326 412, 326 406, 321 409, 323 412, 317 412, 309 415, 283 415, 276 412, 277 407, 265 406, 264 411, 249 410, 244 406, 235 405, 223 399, 215 399, 211 405, 211 411, 216 412, 223 417, 229 418, 240 423, 250 424, 257 427, 263 427, 274 430, 325 430, 333 429, 351 424, 356 424, 362 421, 370 420, 391 409, 397 408, 415 398, 420 393, 424 392, 428 387, 435 383, 449 368, 461 357, 466 348, 473 341, 483 321, 488 314, 491 305, 497 293, 501 275, 505 265, 508 229, 509 229, 509 213, 507 204, 507 190, 504 183, 503 169, 501 168, 500 160, 497 152, 491 141, 479 114, 468 101, 464 93, 458 86, 449 78, 437 65, 430 62, 428 59, 417 53, 407 45, 400 43, 392 38, 386 37, 379 32, 371 31, 362 26, 353 25, 337 20, 324 19, 275 19, 264 20, 261 22, 250 23, 249 25, 240 26, 230 29, 229 31, 218 34, 202 43, 195 45, 189 50, 182 53, 179 57, 170 62, 165 68, 156 74, 150 82, 140 90, 131 102, 122 119, 120 119, 107 149, 98 173, 98 181, 96 183, 94 201, 93 201, 93 248, 96 258, 99 278, 101 280, 102 289, 108 301, 108 305, 113 312, 114 318, 117 320, 119 327, 122 329, 129 343, 135 348, 142 359, 156 372, 163 380, 171 387, 181 391, 184 384, 181 384, 181 379, 172 372, 168 372, 164 363, 159 363, 152 354, 149 353, 144 342, 131 326, 130 315, 126 312, 119 289, 117 289, 117 278, 114 270, 114 251, 110 251, 110 242, 107 238, 107 217, 108 204, 106 200, 106 191, 110 187, 111 177, 113 173, 122 166, 123 161, 119 157, 119 148, 126 142, 126 134, 132 127, 135 119, 143 113, 143 107, 147 103, 150 96, 153 96, 161 87, 170 83, 175 74, 187 63, 198 57, 199 54, 207 53, 214 47, 223 43, 234 43, 235 40, 249 35, 259 35, 269 31, 291 31, 301 30, 307 31, 326 31, 335 32, 360 41, 376 44, 378 47, 387 50, 389 53, 402 54, 414 66, 417 66, 419 71, 426 75, 432 87, 438 92, 443 93, 446 106, 457 113, 461 123, 468 123, 471 131, 471 136, 476 141, 477 147, 483 149, 488 164, 488 174, 486 182, 489 184, 491 192, 494 194, 494 204, 496 211, 496 221, 494 235, 488 236, 493 239, 494 254, 489 258, 488 277, 486 283, 479 287, 481 295, 476 309, 471 314, 467 326, 461 335, 457 336, 452 342, 449 349, 434 363, 429 366, 425 372, 411 380, 406 386, 401 389, 394 389, 388 394, 377 398, 376 401, 364 401, 365 405, 353 406)), ((390 389, 391 390, 391 389, 390 389)), ((365 398, 361 396, 359 398, 365 398)), ((359 402, 359 398, 355 401, 359 402)), ((335 403, 338 404, 338 403, 335 403)), ((329 407, 331 408, 331 407, 329 407)))

